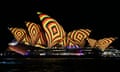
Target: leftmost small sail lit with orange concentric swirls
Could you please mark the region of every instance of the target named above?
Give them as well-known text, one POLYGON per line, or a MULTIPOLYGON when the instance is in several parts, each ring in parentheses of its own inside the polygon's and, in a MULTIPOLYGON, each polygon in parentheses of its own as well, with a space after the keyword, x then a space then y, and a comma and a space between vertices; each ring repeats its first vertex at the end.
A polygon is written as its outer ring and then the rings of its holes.
POLYGON ((18 42, 30 45, 30 37, 27 35, 26 31, 22 28, 10 28, 11 33, 14 35, 18 42))

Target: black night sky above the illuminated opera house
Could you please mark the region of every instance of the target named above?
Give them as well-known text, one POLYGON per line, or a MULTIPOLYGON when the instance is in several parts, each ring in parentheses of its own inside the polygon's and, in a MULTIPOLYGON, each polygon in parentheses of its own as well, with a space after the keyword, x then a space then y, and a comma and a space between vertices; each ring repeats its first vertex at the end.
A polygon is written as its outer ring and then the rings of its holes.
MULTIPOLYGON (((0 44, 6 44, 12 39, 7 30, 8 26, 23 26, 25 21, 40 24, 37 11, 56 19, 67 32, 73 29, 89 28, 92 30, 92 38, 120 37, 118 26, 120 11, 117 4, 81 3, 74 0, 68 2, 62 0, 16 0, 1 3, 3 5, 0 6, 0 31, 4 33, 0 44)), ((119 39, 114 44, 119 47, 119 39)))

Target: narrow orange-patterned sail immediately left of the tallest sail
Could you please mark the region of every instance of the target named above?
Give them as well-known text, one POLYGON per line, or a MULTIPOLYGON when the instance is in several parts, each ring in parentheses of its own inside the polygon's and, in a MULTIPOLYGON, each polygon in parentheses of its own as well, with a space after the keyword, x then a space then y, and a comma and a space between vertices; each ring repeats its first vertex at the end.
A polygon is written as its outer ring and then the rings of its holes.
POLYGON ((41 47, 42 45, 46 45, 45 34, 40 25, 33 22, 27 22, 26 26, 33 46, 41 47))

